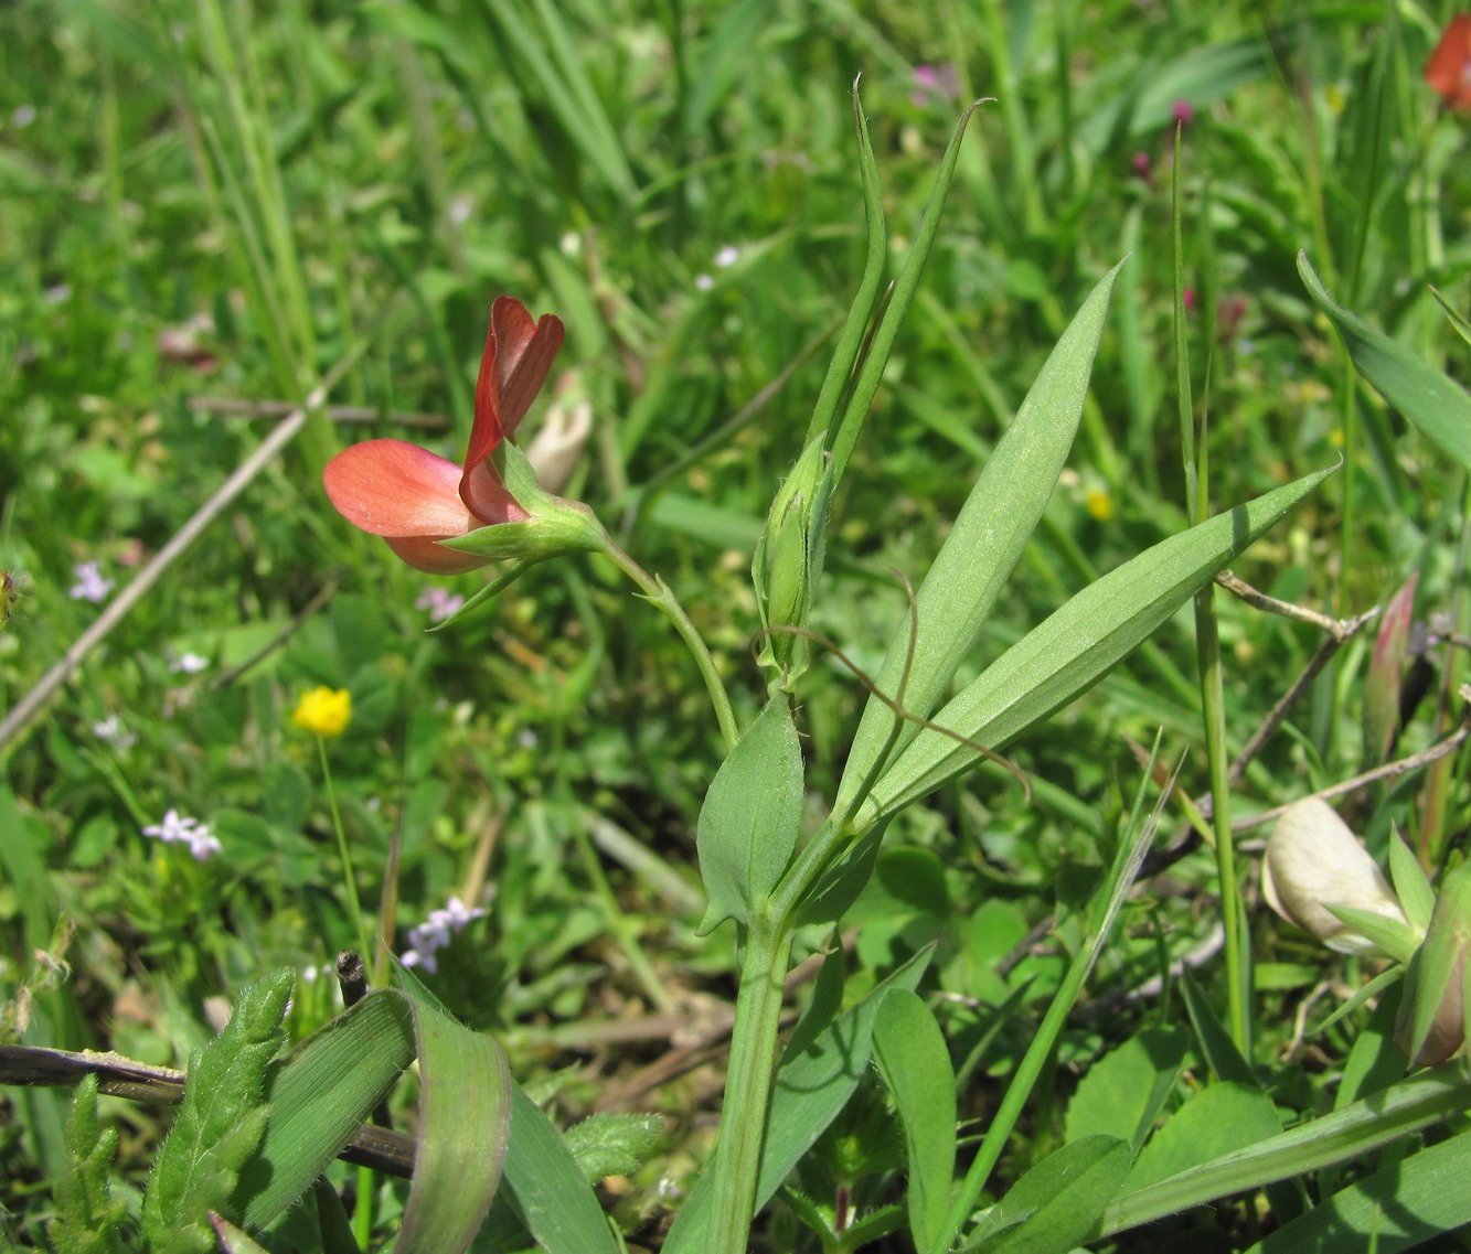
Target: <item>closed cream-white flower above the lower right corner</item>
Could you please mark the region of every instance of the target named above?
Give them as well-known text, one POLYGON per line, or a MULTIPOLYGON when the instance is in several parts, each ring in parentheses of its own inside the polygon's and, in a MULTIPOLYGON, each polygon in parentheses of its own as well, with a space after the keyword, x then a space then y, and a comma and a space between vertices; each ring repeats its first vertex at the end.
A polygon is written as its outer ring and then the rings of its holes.
POLYGON ((1342 954, 1377 953, 1328 906, 1368 910, 1409 926, 1378 864, 1333 807, 1317 797, 1289 806, 1267 842, 1262 892, 1289 923, 1342 954))

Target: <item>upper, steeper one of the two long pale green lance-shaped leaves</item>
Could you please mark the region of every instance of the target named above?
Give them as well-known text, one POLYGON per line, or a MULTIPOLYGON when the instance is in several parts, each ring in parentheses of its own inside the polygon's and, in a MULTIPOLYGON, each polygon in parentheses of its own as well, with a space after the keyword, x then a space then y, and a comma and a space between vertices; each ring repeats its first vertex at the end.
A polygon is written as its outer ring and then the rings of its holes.
MULTIPOLYGON (((919 717, 930 717, 944 698, 1047 507, 1077 435, 1119 266, 1093 288, 1052 350, 919 587, 913 666, 902 694, 905 709, 919 717)), ((881 692, 900 697, 908 657, 909 617, 905 616, 878 672, 881 692)), ((871 697, 838 784, 836 810, 841 811, 868 778, 890 741, 893 722, 894 712, 871 697)), ((896 748, 905 748, 918 732, 916 723, 906 723, 896 748)))

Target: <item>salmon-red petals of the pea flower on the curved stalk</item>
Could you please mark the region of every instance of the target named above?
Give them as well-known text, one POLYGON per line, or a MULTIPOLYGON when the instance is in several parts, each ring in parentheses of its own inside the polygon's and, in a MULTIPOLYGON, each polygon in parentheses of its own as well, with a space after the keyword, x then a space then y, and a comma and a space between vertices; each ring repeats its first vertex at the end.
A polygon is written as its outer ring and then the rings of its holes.
POLYGON ((353 444, 322 472, 337 512, 353 526, 381 535, 416 570, 459 575, 491 562, 438 541, 531 517, 502 481, 491 454, 515 435, 531 409, 562 347, 562 334, 559 318, 544 313, 533 320, 519 300, 496 297, 463 466, 405 440, 353 444))

